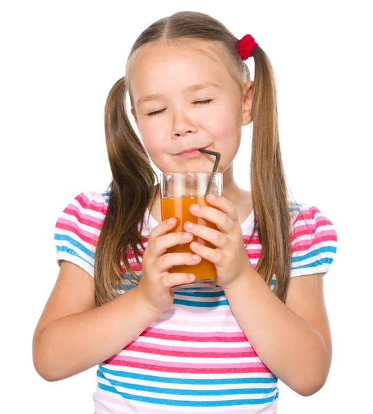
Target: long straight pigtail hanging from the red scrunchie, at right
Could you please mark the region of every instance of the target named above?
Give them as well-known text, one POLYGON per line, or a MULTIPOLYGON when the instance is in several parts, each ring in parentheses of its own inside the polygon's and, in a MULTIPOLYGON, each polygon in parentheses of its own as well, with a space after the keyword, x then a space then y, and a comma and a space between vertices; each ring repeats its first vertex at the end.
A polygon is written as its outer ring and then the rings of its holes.
POLYGON ((270 286, 276 270, 274 292, 285 302, 291 270, 290 215, 278 135, 276 84, 265 52, 256 46, 253 56, 255 81, 250 180, 255 215, 253 233, 258 230, 262 245, 256 271, 270 286))

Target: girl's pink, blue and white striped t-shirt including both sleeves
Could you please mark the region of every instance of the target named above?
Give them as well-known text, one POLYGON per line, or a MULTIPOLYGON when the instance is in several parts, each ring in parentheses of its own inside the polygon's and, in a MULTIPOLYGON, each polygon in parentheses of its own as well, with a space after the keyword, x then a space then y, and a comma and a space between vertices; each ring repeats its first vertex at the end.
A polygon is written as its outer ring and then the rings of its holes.
MULTIPOLYGON (((108 199, 109 193, 80 193, 61 213, 55 226, 59 265, 68 260, 94 277, 108 199)), ((332 222, 309 204, 289 203, 289 211, 291 277, 327 273, 337 246, 332 222)), ((149 237, 157 224, 146 210, 142 235, 149 237)), ((241 228, 245 246, 254 228, 254 211, 241 228)), ((146 248, 146 240, 143 243, 146 248)), ((261 250, 257 234, 246 250, 255 268, 261 250)), ((133 254, 128 259, 141 275, 133 254)), ((274 274, 272 289, 275 283, 274 274)), ((94 412, 276 413, 277 381, 249 344, 220 286, 213 292, 175 292, 169 310, 97 366, 94 412)))

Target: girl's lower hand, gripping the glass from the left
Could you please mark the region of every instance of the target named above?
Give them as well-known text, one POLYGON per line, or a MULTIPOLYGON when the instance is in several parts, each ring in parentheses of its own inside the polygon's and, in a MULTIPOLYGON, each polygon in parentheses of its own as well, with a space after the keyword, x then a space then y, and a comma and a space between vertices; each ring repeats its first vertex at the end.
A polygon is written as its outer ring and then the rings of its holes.
POLYGON ((137 289, 146 299, 146 302, 158 313, 171 308, 173 291, 171 287, 193 282, 195 276, 188 273, 169 273, 167 269, 181 264, 198 264, 201 257, 193 259, 193 253, 166 253, 166 250, 177 244, 190 242, 193 237, 189 234, 184 238, 184 232, 168 233, 176 224, 169 224, 166 220, 158 224, 151 231, 148 246, 142 256, 142 275, 137 289))

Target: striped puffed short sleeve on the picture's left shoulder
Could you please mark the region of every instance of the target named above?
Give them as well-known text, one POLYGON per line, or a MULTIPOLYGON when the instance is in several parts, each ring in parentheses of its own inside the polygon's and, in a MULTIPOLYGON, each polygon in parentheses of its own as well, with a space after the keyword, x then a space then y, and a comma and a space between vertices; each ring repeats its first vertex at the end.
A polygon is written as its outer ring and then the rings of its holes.
POLYGON ((57 264, 67 260, 92 277, 95 250, 107 210, 108 193, 80 193, 63 210, 55 224, 57 264))

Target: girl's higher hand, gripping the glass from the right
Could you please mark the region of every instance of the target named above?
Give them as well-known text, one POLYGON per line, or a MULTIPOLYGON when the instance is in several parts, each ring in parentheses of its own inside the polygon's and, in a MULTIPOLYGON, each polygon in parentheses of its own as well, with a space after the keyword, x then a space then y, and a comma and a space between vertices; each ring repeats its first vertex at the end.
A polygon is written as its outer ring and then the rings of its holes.
POLYGON ((200 206, 199 210, 193 211, 190 208, 190 211, 196 217, 201 217, 216 224, 218 230, 194 223, 193 228, 188 228, 187 223, 190 223, 189 221, 184 223, 184 230, 216 246, 213 249, 197 242, 190 244, 194 253, 215 265, 216 283, 225 289, 234 286, 238 279, 245 275, 245 270, 252 268, 252 266, 242 241, 243 235, 236 207, 231 201, 220 195, 215 195, 215 197, 216 199, 213 200, 211 195, 208 195, 207 201, 219 210, 209 206, 200 206))

